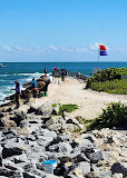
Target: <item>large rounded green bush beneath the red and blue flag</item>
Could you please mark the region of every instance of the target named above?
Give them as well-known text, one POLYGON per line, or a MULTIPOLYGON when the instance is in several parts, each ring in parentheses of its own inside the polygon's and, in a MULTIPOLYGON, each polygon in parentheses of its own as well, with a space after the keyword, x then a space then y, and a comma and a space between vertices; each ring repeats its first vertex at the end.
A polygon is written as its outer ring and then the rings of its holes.
POLYGON ((121 80, 125 75, 127 75, 126 68, 99 70, 87 80, 86 88, 109 93, 127 95, 127 79, 121 80))

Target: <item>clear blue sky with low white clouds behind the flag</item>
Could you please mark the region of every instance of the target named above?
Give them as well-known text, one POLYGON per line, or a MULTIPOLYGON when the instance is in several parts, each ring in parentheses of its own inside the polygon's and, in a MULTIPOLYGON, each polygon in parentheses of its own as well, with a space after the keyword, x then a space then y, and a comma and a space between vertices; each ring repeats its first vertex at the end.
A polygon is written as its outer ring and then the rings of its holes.
POLYGON ((127 61, 126 0, 0 0, 0 61, 127 61))

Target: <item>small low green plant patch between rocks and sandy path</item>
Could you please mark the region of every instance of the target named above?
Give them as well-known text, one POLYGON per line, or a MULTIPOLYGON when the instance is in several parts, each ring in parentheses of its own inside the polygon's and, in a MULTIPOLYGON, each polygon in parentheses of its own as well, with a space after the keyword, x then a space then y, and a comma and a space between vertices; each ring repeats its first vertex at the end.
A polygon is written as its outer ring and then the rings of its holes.
POLYGON ((71 112, 74 110, 78 109, 78 106, 77 105, 72 105, 72 103, 69 103, 69 105, 60 105, 59 106, 59 112, 58 115, 62 115, 63 111, 66 112, 71 112))

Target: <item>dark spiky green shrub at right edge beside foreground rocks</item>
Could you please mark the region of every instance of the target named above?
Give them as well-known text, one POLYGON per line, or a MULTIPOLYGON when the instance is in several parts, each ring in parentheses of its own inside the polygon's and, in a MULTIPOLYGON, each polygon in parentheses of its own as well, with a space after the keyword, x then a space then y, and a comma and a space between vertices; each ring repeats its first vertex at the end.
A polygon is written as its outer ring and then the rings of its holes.
POLYGON ((127 106, 113 102, 107 109, 102 109, 102 113, 88 125, 87 130, 123 127, 125 125, 127 125, 127 106))

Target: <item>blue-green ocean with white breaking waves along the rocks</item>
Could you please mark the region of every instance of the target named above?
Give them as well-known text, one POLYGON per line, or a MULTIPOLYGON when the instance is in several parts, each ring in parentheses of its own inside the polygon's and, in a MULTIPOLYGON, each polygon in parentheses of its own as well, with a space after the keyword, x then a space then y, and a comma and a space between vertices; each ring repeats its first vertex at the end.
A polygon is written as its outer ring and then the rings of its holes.
MULTIPOLYGON (((80 72, 89 76, 96 68, 127 68, 127 62, 2 62, 7 67, 0 68, 0 105, 7 96, 12 95, 14 80, 19 80, 22 86, 25 82, 31 81, 32 78, 39 78, 43 73, 46 67, 48 72, 52 71, 53 67, 66 68, 68 71, 80 72)), ((22 88, 23 89, 23 88, 22 88)))

